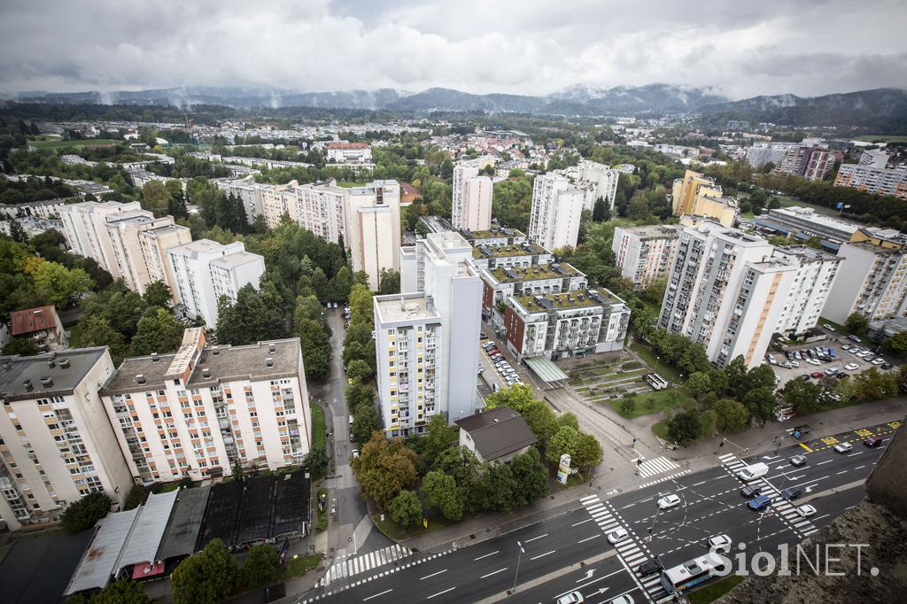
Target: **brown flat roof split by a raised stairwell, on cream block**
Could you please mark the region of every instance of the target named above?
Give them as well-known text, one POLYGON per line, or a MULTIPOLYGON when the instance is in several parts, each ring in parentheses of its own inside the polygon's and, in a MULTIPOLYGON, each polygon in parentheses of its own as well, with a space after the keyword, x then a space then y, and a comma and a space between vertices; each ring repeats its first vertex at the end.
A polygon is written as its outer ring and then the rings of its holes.
MULTIPOLYGON (((269 340, 249 346, 206 346, 201 349, 199 362, 195 365, 188 387, 216 385, 219 382, 246 379, 260 381, 289 377, 299 372, 299 338, 269 340), (274 352, 270 351, 274 346, 274 352), (268 366, 270 358, 273 366, 268 366), (209 370, 205 377, 204 370, 209 370)), ((145 392, 164 385, 175 354, 133 356, 122 362, 111 381, 103 388, 102 395, 120 395, 145 392), (140 384, 137 376, 144 383, 140 384)))

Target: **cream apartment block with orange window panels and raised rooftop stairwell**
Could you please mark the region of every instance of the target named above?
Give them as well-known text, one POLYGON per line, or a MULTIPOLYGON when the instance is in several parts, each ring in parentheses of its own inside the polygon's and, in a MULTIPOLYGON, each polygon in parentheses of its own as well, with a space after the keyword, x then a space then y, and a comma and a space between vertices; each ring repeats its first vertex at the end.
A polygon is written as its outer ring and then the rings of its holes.
POLYGON ((187 329, 175 355, 123 361, 101 398, 135 482, 276 470, 311 450, 298 338, 211 347, 187 329))

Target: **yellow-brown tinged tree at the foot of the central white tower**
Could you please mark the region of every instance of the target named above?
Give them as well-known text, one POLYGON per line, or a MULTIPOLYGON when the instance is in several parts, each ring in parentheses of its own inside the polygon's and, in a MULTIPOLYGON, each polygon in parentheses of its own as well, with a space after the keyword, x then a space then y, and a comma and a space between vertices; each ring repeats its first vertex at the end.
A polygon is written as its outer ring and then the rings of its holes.
POLYGON ((386 510, 399 492, 413 486, 418 457, 399 438, 388 440, 375 432, 353 460, 353 470, 363 496, 371 497, 380 510, 386 510))

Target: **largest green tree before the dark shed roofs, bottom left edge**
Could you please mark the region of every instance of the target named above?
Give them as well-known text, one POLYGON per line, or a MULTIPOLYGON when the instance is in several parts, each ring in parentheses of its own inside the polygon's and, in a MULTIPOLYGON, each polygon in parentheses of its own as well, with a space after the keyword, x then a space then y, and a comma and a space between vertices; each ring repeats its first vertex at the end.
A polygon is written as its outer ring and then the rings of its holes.
POLYGON ((176 604, 216 604, 226 599, 239 579, 236 558, 223 541, 214 539, 204 550, 182 560, 171 574, 176 604))

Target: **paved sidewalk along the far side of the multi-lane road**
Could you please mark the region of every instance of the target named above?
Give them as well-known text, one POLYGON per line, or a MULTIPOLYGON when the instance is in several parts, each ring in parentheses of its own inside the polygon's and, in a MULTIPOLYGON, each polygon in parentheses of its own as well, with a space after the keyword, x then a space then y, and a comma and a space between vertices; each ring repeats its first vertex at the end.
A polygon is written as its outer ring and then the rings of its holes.
MULTIPOLYGON (((787 433, 795 425, 810 424, 813 426, 814 436, 823 436, 838 434, 852 429, 858 429, 863 425, 882 424, 883 422, 894 419, 902 419, 907 414, 907 397, 901 396, 892 399, 885 399, 875 403, 866 403, 834 409, 820 414, 799 417, 783 424, 771 423, 765 427, 756 426, 749 428, 744 432, 733 435, 733 442, 739 445, 741 449, 749 449, 749 455, 766 453, 780 446, 787 446, 796 441, 787 433), (775 437, 780 436, 780 441, 775 437)), ((707 441, 697 442, 688 447, 678 447, 672 452, 666 452, 673 461, 680 465, 680 469, 689 472, 698 472, 717 465, 716 456, 719 451, 718 444, 721 443, 721 437, 715 437, 707 441)), ((744 456, 742 450, 736 449, 732 445, 726 445, 720 449, 725 453, 735 453, 738 456, 744 456), (729 448, 727 448, 729 446, 729 448)), ((548 498, 527 506, 519 511, 511 513, 506 512, 483 512, 476 514, 469 520, 458 522, 457 524, 436 531, 430 531, 424 535, 413 537, 404 541, 399 541, 407 548, 419 551, 442 551, 449 550, 453 547, 463 548, 494 539, 511 531, 516 531, 543 520, 561 516, 582 507, 580 497, 591 492, 597 492, 602 499, 620 492, 633 491, 639 488, 640 479, 631 465, 619 463, 620 467, 614 470, 606 469, 610 463, 607 457, 599 466, 595 478, 592 480, 592 486, 583 485, 565 489, 556 492, 548 498)), ((671 472, 666 472, 663 476, 652 476, 653 480, 670 476, 671 472)))

